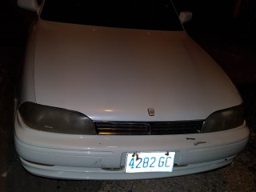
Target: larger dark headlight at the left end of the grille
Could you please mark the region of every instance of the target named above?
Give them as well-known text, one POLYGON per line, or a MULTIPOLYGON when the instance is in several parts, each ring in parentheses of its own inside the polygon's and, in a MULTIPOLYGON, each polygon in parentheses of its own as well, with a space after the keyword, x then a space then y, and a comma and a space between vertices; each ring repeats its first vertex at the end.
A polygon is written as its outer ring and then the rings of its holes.
POLYGON ((22 120, 35 130, 63 134, 96 134, 94 122, 72 110, 24 102, 18 109, 22 120))

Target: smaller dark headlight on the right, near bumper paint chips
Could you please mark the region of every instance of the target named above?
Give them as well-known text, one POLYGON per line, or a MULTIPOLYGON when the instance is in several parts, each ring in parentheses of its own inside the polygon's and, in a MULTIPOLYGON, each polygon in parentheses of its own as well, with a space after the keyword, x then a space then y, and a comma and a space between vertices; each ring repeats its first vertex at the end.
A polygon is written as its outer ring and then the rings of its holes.
POLYGON ((229 130, 242 126, 244 122, 243 106, 234 106, 210 114, 202 128, 202 133, 229 130))

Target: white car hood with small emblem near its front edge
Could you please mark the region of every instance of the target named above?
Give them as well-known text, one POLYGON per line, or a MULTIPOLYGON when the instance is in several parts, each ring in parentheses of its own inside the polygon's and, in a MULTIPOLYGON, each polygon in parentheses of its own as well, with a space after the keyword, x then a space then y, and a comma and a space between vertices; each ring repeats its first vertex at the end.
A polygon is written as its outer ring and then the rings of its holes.
POLYGON ((184 31, 39 21, 36 102, 93 120, 204 119, 242 102, 226 74, 184 31), (148 109, 154 108, 154 116, 148 109))

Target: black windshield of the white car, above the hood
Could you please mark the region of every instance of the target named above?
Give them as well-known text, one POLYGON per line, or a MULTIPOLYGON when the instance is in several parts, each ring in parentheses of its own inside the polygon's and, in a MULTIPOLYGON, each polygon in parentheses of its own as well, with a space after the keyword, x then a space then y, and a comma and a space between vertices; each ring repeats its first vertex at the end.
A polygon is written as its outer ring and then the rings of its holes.
POLYGON ((46 0, 41 18, 90 26, 183 30, 170 0, 46 0))

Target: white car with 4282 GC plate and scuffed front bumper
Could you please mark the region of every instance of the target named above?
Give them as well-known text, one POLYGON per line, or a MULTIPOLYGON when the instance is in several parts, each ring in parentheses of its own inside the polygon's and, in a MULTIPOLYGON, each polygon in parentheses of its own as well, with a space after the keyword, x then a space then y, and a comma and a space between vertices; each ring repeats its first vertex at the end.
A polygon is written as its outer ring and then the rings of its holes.
POLYGON ((226 166, 249 140, 242 98, 170 0, 18 0, 30 27, 14 122, 32 174, 142 179, 226 166))

